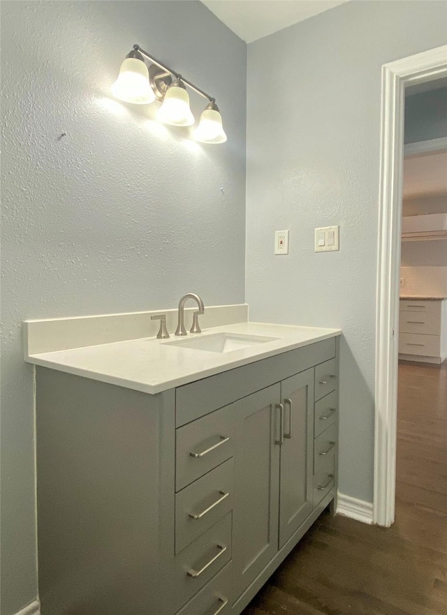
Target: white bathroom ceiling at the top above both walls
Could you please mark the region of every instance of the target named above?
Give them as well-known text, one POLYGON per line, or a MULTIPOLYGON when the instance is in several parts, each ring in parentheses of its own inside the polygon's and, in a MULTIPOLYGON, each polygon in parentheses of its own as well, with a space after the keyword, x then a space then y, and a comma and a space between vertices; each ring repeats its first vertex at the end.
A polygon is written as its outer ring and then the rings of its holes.
POLYGON ((252 43, 349 0, 202 0, 237 36, 252 43))

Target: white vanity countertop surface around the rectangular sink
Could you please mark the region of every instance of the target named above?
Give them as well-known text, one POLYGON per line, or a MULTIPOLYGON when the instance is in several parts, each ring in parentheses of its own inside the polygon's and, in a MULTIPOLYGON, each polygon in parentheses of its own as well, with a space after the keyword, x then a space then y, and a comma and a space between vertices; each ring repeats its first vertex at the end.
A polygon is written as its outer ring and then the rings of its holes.
MULTIPOLYGON (((27 361, 76 376, 155 394, 341 334, 340 329, 240 323, 204 329, 199 335, 203 337, 219 332, 277 339, 229 353, 214 353, 170 346, 170 342, 185 339, 172 335, 170 339, 131 339, 29 355, 27 361)), ((189 334, 189 337, 196 336, 189 334)))

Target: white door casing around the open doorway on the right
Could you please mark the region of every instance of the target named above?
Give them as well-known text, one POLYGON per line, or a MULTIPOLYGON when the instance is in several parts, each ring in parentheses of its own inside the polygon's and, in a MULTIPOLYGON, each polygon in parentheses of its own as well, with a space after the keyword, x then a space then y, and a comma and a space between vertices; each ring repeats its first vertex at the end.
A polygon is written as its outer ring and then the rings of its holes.
POLYGON ((395 513, 404 90, 446 76, 447 45, 382 67, 373 520, 386 527, 395 513))

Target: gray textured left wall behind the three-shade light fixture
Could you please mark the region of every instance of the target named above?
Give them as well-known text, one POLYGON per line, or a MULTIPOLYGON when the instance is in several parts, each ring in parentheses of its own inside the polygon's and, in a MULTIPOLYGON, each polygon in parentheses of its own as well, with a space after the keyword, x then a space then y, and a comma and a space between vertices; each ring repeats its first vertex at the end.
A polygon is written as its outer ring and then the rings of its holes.
MULTIPOLYGON (((22 320, 175 307, 188 290, 208 305, 244 301, 247 47, 200 2, 1 9, 1 614, 10 615, 36 597, 22 320), (156 103, 110 98, 133 43, 217 98, 225 145, 161 126, 156 103)), ((197 114, 205 107, 196 94, 191 103, 197 114)))

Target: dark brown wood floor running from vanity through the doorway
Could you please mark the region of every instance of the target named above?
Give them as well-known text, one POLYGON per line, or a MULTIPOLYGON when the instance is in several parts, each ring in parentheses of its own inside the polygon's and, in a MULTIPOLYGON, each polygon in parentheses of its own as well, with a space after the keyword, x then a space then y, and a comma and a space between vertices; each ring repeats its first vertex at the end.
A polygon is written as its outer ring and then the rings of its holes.
POLYGON ((447 615, 447 362, 401 364, 396 522, 324 513, 243 615, 447 615))

